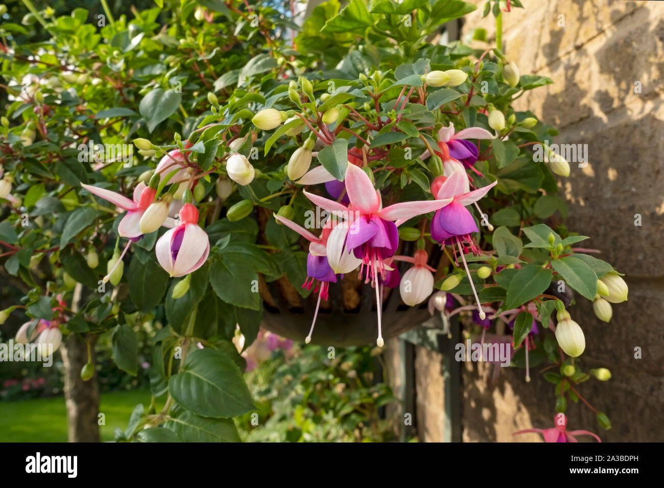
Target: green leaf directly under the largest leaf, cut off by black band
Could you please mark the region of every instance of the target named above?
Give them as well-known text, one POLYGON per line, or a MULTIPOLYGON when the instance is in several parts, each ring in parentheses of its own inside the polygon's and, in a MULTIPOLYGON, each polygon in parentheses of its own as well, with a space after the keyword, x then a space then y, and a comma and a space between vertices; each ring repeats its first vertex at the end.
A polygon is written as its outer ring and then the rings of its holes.
POLYGON ((164 428, 172 430, 181 442, 240 442, 231 418, 205 418, 194 415, 179 405, 169 412, 164 428))

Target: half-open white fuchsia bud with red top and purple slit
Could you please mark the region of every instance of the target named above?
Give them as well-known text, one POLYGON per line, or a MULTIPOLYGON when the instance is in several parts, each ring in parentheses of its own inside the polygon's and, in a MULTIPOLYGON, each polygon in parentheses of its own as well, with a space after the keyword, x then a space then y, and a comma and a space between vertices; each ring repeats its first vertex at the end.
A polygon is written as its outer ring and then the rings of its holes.
POLYGON ((185 203, 180 210, 180 223, 157 240, 157 261, 170 276, 185 276, 201 268, 207 260, 210 239, 198 221, 199 210, 185 203))

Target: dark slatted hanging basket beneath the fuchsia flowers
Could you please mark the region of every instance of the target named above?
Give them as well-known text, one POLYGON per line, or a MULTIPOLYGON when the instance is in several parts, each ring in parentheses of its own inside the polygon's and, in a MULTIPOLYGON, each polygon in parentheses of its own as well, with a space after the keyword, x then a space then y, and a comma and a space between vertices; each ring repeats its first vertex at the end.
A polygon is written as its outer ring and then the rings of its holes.
MULTIPOLYGON (((402 247, 397 254, 412 256, 412 242, 406 242, 402 247)), ((432 246, 428 264, 438 268, 441 254, 440 248, 432 246)), ((400 276, 412 266, 404 262, 394 264, 398 264, 400 276)), ((317 295, 311 293, 306 299, 301 298, 294 287, 297 284, 290 284, 286 278, 263 285, 263 327, 283 337, 303 341, 311 328, 317 295)), ((427 301, 410 307, 403 303, 398 287, 384 289, 383 339, 414 329, 429 317, 427 301)), ((311 343, 335 347, 375 345, 377 337, 376 290, 361 282, 356 272, 345 275, 340 282, 331 283, 329 299, 321 301, 311 343)))

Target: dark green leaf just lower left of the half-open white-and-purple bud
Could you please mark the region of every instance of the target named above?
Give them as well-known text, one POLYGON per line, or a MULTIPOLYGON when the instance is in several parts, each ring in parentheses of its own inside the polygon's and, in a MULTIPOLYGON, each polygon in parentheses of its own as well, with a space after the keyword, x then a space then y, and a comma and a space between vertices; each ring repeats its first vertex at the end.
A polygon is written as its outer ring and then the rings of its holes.
POLYGON ((143 263, 138 256, 134 256, 127 278, 129 296, 137 309, 147 312, 159 305, 168 286, 168 273, 154 258, 143 263))

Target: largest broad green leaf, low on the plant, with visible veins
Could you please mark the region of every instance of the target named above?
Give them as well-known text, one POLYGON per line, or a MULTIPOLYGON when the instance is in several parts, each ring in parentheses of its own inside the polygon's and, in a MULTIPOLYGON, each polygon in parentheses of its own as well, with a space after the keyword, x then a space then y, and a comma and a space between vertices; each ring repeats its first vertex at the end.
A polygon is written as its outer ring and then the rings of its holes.
POLYGON ((171 376, 175 401, 203 417, 230 418, 256 410, 240 368, 214 349, 193 349, 171 376))

